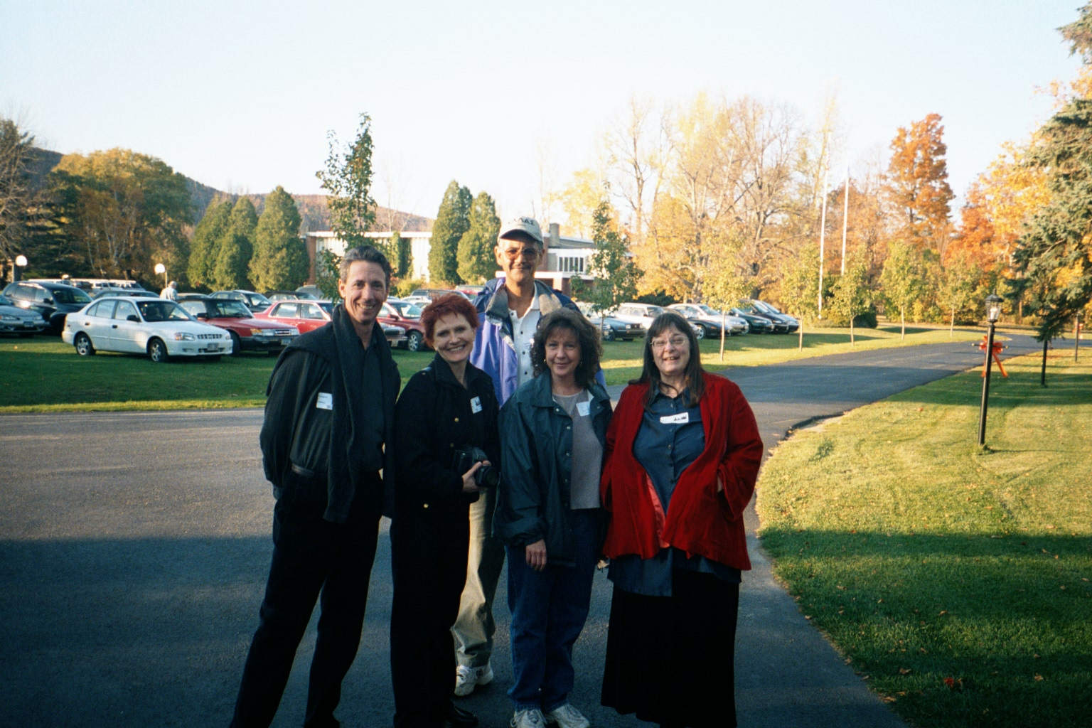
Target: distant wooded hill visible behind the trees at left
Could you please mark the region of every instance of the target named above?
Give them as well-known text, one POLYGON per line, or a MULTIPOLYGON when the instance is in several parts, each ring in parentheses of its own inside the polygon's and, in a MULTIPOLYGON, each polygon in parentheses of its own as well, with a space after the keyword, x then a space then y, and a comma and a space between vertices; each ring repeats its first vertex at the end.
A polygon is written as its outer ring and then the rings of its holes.
MULTIPOLYGON (((63 155, 59 152, 35 147, 34 162, 32 163, 35 187, 39 187, 45 183, 46 175, 48 175, 54 167, 58 165, 62 156, 63 155)), ((202 184, 195 179, 186 177, 186 175, 182 175, 182 177, 186 179, 186 184, 190 190, 190 198, 193 200, 194 224, 197 224, 198 220, 204 216, 205 210, 213 200, 226 199, 235 201, 241 196, 217 190, 216 188, 209 187, 207 184, 202 184)), ((258 211, 258 214, 261 215, 262 207, 265 206, 265 194, 248 194, 247 196, 254 203, 254 208, 258 211)), ((330 212, 327 210, 327 195, 293 194, 292 199, 296 201, 296 207, 299 210, 299 216, 301 218, 299 224, 300 234, 330 229, 330 212)), ((420 215, 404 213, 397 210, 378 206, 376 208, 376 224, 379 229, 424 231, 432 229, 432 222, 434 220, 430 217, 422 217, 420 215)))

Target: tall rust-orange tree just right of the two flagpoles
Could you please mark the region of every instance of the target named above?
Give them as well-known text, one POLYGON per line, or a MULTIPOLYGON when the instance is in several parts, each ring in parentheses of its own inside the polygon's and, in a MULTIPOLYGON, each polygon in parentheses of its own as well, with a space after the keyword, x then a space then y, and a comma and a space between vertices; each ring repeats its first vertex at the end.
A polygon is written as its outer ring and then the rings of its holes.
POLYGON ((951 188, 945 155, 945 128, 939 114, 929 114, 910 128, 900 128, 891 140, 888 195, 898 208, 900 236, 918 249, 941 255, 948 235, 951 188))

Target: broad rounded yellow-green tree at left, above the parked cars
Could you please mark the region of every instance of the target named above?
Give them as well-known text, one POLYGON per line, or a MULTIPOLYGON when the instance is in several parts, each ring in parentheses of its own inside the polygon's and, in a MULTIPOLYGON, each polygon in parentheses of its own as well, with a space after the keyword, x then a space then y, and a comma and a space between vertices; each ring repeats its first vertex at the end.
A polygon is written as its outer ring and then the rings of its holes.
POLYGON ((73 201, 64 223, 87 266, 109 277, 154 279, 156 260, 185 270, 192 203, 186 178, 129 150, 70 154, 50 172, 55 192, 73 201))

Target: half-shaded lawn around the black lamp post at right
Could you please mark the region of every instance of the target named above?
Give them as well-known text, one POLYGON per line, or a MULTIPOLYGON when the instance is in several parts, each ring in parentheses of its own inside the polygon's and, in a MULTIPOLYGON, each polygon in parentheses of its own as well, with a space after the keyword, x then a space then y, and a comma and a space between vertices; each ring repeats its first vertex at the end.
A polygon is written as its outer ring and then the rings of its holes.
POLYGON ((758 488, 762 545, 805 616, 930 727, 1090 725, 1092 362, 1059 351, 795 433, 758 488))

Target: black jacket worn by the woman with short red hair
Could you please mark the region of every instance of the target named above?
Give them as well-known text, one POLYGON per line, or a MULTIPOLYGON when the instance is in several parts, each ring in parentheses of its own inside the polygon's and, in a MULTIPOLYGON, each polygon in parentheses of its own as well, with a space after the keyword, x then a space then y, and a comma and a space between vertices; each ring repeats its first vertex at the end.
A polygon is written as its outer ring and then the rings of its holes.
POLYGON ((463 492, 465 470, 454 467, 461 447, 480 447, 500 468, 492 380, 470 362, 465 380, 464 389, 438 354, 406 382, 394 409, 395 513, 477 500, 463 492))

